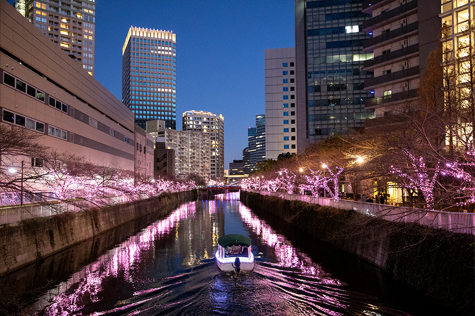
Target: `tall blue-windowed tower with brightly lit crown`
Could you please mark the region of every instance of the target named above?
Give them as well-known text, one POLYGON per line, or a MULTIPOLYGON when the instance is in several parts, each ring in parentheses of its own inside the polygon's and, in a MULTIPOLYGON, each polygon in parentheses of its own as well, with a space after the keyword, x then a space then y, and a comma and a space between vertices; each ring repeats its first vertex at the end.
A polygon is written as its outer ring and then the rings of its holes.
POLYGON ((130 27, 122 48, 122 102, 135 123, 165 120, 176 129, 176 34, 130 27))

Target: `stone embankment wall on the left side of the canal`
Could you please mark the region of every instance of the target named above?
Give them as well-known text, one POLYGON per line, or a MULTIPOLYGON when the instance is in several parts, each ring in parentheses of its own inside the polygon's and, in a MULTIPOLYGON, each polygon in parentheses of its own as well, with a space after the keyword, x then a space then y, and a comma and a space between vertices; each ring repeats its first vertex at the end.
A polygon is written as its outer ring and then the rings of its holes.
POLYGON ((0 227, 0 275, 53 255, 81 241, 136 220, 151 212, 167 215, 170 205, 196 200, 198 192, 162 193, 130 203, 37 217, 0 227))

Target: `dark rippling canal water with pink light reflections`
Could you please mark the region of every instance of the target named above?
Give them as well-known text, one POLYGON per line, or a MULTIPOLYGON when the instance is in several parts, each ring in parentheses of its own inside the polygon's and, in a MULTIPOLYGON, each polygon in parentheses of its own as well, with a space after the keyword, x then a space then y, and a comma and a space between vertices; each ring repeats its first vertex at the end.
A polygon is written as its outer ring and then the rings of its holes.
POLYGON ((23 311, 38 316, 455 314, 354 256, 258 217, 239 193, 185 203, 145 228, 103 238, 111 246, 88 241, 2 278, 0 300, 30 282, 35 289, 8 303, 30 300, 23 311), (251 238, 253 271, 218 269, 218 238, 231 233, 251 238))

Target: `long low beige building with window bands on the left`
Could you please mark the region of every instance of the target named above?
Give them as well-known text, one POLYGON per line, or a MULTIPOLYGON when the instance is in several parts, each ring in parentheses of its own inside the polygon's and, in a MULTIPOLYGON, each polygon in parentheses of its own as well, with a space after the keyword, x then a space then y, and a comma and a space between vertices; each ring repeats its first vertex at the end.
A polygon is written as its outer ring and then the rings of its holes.
MULTIPOLYGON (((58 153, 134 171, 134 117, 120 100, 5 0, 0 38, 1 124, 42 135, 37 141, 58 153)), ((25 168, 34 158, 24 157, 25 168)))

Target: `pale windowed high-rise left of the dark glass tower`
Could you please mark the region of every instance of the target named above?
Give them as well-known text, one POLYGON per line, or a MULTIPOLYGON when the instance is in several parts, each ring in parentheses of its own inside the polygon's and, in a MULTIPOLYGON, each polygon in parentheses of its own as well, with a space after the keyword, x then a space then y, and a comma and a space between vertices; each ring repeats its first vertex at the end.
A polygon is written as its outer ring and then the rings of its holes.
POLYGON ((297 152, 295 48, 266 49, 264 76, 265 158, 276 160, 281 153, 297 152))

